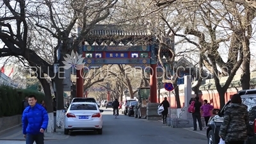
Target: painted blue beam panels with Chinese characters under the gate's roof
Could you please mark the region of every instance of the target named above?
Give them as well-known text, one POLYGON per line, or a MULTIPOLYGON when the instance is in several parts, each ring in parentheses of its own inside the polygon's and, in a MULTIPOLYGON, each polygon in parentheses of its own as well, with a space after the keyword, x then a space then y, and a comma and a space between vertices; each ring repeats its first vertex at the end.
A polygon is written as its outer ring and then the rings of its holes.
POLYGON ((152 45, 84 45, 86 71, 110 64, 140 65, 145 68, 152 63, 153 49, 152 45))

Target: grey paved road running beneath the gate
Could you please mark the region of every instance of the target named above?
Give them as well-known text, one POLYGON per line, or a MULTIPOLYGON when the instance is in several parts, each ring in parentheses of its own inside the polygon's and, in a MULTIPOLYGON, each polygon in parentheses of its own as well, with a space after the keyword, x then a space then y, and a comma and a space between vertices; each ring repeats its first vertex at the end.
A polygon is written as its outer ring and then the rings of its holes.
MULTIPOLYGON (((147 121, 134 117, 119 115, 114 118, 111 109, 104 109, 103 134, 97 132, 72 132, 65 140, 45 141, 45 144, 205 144, 207 139, 202 134, 166 127, 161 122, 147 121)), ((0 141, 1 144, 24 144, 24 141, 0 141)))

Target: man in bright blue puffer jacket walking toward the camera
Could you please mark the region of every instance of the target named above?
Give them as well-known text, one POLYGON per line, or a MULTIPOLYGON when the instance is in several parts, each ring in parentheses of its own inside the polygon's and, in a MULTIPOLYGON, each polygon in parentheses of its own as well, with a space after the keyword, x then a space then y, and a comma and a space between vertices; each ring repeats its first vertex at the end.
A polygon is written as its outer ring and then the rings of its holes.
POLYGON ((29 106, 22 115, 22 130, 26 144, 44 144, 44 131, 48 125, 48 114, 43 106, 36 104, 36 96, 29 95, 29 106))

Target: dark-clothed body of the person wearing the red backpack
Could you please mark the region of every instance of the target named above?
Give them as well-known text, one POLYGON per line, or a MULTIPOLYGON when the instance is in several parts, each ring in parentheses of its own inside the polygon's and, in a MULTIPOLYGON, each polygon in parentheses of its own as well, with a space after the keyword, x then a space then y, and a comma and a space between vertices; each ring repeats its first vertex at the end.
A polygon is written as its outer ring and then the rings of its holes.
POLYGON ((200 113, 200 108, 202 106, 202 102, 199 102, 199 97, 197 97, 197 96, 195 97, 195 99, 191 98, 189 100, 189 104, 191 104, 192 101, 195 101, 195 105, 194 105, 195 113, 192 113, 193 125, 194 125, 193 131, 196 131, 196 129, 197 129, 196 120, 198 121, 200 131, 202 131, 203 127, 202 127, 202 120, 201 120, 201 113, 200 113))

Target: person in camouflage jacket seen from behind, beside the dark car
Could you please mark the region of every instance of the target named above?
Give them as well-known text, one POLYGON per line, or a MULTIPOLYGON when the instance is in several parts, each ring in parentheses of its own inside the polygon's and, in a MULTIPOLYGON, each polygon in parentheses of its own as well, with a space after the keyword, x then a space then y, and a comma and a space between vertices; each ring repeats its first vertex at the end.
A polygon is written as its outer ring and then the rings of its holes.
POLYGON ((224 121, 220 127, 220 138, 228 144, 243 144, 248 138, 249 116, 247 106, 240 95, 233 95, 231 104, 224 109, 224 121))

